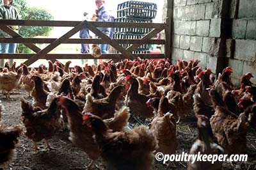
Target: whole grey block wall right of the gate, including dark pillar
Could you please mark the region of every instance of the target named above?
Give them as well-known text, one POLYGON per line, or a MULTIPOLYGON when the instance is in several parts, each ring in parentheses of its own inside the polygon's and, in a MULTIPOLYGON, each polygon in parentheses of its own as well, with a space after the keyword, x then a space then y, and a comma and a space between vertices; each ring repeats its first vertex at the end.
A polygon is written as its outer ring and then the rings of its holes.
POLYGON ((173 0, 173 62, 200 59, 214 73, 232 66, 236 84, 243 73, 256 77, 255 6, 254 0, 173 0))

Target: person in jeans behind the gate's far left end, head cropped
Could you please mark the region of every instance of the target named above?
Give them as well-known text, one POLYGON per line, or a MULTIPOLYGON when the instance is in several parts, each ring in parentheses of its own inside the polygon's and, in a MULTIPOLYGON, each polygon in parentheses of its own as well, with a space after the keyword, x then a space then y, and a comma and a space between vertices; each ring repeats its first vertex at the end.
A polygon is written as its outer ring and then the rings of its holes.
MULTIPOLYGON (((3 0, 0 6, 0 19, 20 19, 18 10, 12 6, 13 0, 3 0)), ((10 26, 12 29, 18 29, 18 26, 10 26)), ((11 37, 0 29, 0 38, 11 37)), ((15 53, 17 43, 0 43, 0 53, 15 53)), ((12 62, 11 62, 12 63, 12 62)), ((0 65, 4 65, 4 60, 1 59, 0 65)))

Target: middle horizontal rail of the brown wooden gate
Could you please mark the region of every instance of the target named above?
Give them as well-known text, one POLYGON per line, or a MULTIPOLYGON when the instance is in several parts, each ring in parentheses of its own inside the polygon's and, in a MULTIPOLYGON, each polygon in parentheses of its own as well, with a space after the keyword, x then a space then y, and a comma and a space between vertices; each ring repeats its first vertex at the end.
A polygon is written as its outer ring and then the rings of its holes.
MULTIPOLYGON (((52 43, 57 38, 1 38, 0 43, 52 43)), ((113 39, 117 43, 134 43, 134 44, 164 44, 164 40, 131 40, 131 39, 113 39)), ((63 43, 105 43, 101 39, 81 39, 70 38, 63 43)))

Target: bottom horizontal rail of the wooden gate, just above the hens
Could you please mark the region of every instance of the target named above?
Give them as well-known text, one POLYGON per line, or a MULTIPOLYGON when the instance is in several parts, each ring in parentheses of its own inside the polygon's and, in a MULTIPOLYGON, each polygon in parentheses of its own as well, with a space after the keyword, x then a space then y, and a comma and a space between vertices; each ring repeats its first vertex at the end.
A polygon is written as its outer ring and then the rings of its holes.
MULTIPOLYGON (((144 58, 164 58, 164 54, 134 54, 134 56, 144 58)), ((28 59, 33 57, 33 54, 0 54, 0 59, 28 59)), ((91 54, 46 54, 40 59, 95 59, 91 54)), ((97 59, 124 59, 126 58, 123 54, 102 54, 97 59)))

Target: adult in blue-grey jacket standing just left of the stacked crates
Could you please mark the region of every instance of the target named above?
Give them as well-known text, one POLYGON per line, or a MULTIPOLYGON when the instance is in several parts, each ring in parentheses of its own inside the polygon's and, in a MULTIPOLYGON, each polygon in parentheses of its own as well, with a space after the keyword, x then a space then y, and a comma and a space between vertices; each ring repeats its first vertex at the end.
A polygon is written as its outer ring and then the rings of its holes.
MULTIPOLYGON (((104 3, 105 3, 104 0, 95 0, 95 4, 97 6, 97 10, 95 11, 96 12, 95 17, 97 22, 109 22, 110 20, 109 13, 105 8, 104 3)), ((105 35, 110 36, 109 27, 98 27, 98 29, 102 31, 102 33, 104 33, 105 35)), ((104 44, 100 44, 99 46, 102 54, 108 53, 108 44, 104 43, 104 44)))

